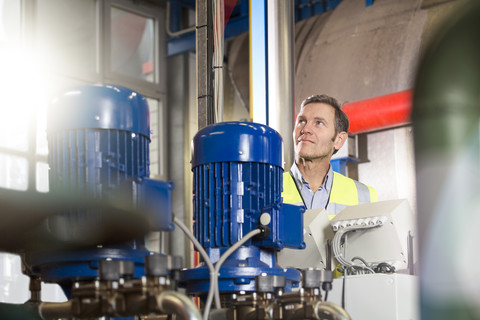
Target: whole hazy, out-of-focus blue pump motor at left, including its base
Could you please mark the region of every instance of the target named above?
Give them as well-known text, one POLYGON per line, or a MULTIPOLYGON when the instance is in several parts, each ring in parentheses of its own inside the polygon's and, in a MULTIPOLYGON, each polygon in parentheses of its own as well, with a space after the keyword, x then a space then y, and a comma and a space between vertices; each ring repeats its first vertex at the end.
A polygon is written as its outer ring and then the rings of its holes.
MULTIPOLYGON (((50 191, 80 194, 86 199, 113 199, 129 192, 131 203, 149 212, 152 231, 173 229, 171 182, 149 179, 150 119, 146 99, 127 88, 105 84, 72 88, 57 96, 48 109, 50 191), (124 193, 122 193, 124 194, 124 193), (148 201, 147 201, 148 198, 148 201)), ((118 199, 125 200, 125 199, 118 199)), ((57 218, 66 232, 77 224, 96 223, 95 209, 71 208, 57 218)), ((143 275, 148 255, 143 239, 114 247, 32 253, 27 263, 43 281, 65 284, 94 278, 98 261, 135 262, 135 277, 143 275)))

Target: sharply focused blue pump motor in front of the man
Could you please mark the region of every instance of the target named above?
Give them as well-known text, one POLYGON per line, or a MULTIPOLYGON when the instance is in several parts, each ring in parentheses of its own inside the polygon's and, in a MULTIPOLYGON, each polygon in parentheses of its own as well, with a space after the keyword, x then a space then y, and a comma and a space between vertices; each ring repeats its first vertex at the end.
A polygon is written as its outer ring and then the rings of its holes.
MULTIPOLYGON (((192 141, 194 234, 212 263, 262 216, 268 233, 252 238, 222 265, 219 290, 255 291, 255 276, 284 276, 285 290, 297 286, 300 273, 280 268, 275 251, 303 248, 303 211, 282 203, 283 141, 272 128, 252 122, 224 122, 200 130, 192 141)), ((209 288, 204 263, 186 270, 188 292, 209 288)))

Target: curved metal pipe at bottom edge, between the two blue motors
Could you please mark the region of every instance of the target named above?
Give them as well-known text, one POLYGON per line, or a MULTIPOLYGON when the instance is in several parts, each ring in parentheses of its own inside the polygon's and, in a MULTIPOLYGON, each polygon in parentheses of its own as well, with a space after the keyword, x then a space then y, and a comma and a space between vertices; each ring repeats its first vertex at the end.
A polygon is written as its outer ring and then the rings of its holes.
POLYGON ((176 314, 181 320, 202 320, 197 306, 187 296, 175 291, 164 291, 157 296, 157 305, 161 312, 176 314))

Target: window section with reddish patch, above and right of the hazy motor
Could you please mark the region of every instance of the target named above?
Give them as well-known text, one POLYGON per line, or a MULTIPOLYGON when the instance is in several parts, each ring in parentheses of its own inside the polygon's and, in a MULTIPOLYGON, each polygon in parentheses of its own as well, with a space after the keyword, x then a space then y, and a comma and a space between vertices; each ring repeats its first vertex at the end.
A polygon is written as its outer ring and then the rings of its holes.
POLYGON ((165 12, 140 1, 110 0, 103 6, 104 80, 136 90, 150 108, 150 175, 166 179, 165 12))

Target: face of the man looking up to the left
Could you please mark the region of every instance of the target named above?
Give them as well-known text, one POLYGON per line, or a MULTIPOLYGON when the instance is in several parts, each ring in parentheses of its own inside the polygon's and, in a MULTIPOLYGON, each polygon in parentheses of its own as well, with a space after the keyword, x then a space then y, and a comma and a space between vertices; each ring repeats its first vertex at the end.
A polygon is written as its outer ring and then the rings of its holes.
POLYGON ((293 140, 297 158, 330 159, 333 151, 343 145, 335 134, 335 109, 318 102, 304 106, 295 121, 293 140))

